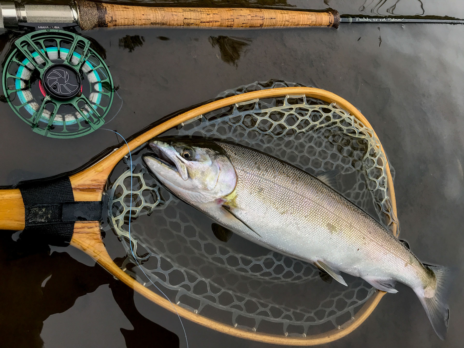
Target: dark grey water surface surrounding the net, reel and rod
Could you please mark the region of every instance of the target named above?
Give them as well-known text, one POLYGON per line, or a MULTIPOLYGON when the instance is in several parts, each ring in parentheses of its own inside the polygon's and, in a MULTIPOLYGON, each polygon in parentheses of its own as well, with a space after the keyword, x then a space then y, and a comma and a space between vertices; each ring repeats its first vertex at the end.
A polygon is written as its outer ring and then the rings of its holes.
MULTIPOLYGON (((423 6, 425 14, 464 17, 461 1, 280 4, 383 14, 388 9, 422 13, 423 6)), ((453 265, 458 271, 445 342, 433 332, 413 291, 398 284, 399 293, 386 295, 360 328, 326 346, 462 347, 464 26, 233 32, 122 28, 83 34, 106 52, 123 99, 122 110, 106 127, 124 136, 223 90, 271 78, 330 90, 353 103, 373 125, 396 169, 401 237, 424 262, 453 265)), ((0 34, 2 61, 19 35, 0 34)), ((118 97, 114 103, 120 103, 118 97)), ((71 171, 120 141, 102 129, 77 139, 45 138, 6 103, 0 103, 0 115, 0 185, 71 171)), ((179 342, 186 347, 174 314, 134 295, 89 256, 72 247, 27 246, 15 242, 11 232, 0 235, 1 347, 177 347, 179 342)), ((183 322, 190 347, 266 346, 183 322)))

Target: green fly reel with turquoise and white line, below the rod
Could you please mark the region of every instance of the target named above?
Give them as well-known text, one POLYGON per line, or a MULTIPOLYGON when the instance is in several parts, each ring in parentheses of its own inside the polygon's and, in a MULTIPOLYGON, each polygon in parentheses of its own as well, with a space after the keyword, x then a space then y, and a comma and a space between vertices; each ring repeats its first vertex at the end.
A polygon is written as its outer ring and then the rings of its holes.
POLYGON ((26 34, 15 45, 3 70, 3 92, 34 132, 75 138, 104 124, 113 79, 89 40, 47 29, 26 34))

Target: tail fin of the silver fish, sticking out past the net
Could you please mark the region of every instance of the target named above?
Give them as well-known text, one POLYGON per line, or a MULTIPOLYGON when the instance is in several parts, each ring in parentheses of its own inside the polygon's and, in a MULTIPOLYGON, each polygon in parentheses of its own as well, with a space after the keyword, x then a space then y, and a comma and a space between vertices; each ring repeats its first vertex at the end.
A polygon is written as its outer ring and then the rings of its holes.
POLYGON ((435 278, 436 284, 428 285, 425 289, 420 288, 415 292, 424 306, 435 333, 441 340, 445 340, 450 316, 448 294, 454 272, 449 267, 430 265, 425 267, 431 271, 430 276, 432 279, 435 278))

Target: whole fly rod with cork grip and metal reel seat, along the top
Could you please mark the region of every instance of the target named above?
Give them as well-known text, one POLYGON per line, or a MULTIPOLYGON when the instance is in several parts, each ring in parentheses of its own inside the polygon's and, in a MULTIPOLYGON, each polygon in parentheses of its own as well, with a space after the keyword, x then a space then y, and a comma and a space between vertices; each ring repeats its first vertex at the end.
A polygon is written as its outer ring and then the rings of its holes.
POLYGON ((27 24, 69 23, 82 30, 114 26, 172 26, 207 28, 334 27, 340 23, 442 23, 464 24, 448 16, 340 15, 328 8, 288 10, 270 8, 150 7, 114 5, 77 0, 71 5, 27 5, 0 2, 0 28, 18 29, 27 24))

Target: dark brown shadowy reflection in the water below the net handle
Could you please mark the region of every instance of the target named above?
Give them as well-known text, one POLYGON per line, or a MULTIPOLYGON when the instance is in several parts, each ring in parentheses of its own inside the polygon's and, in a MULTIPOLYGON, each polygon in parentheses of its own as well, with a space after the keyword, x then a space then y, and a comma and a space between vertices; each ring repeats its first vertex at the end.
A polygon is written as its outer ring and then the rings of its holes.
POLYGON ((128 348, 151 347, 154 338, 160 347, 179 347, 177 335, 142 316, 135 308, 134 291, 99 265, 88 266, 65 252, 50 254, 48 245, 26 244, 20 239, 14 242, 9 233, 1 233, 0 272, 8 275, 0 296, 12 299, 2 301, 0 310, 2 347, 42 348, 44 321, 70 309, 78 297, 103 284, 109 284, 116 303, 134 327, 121 328, 128 348))

